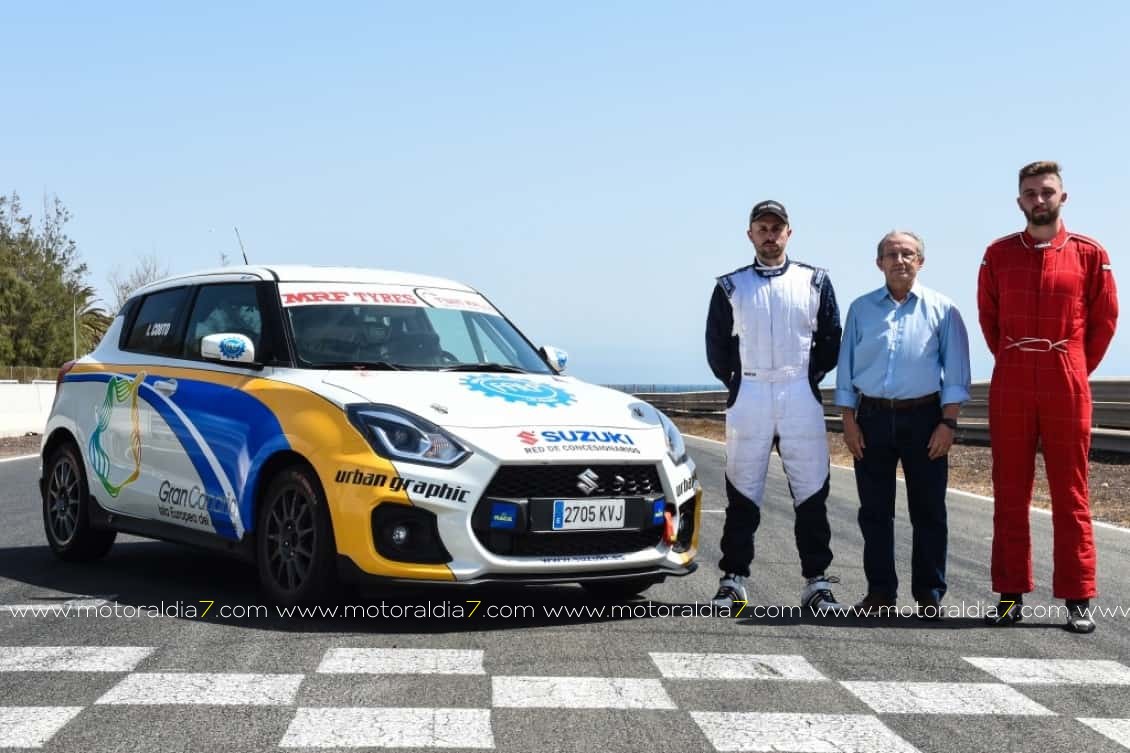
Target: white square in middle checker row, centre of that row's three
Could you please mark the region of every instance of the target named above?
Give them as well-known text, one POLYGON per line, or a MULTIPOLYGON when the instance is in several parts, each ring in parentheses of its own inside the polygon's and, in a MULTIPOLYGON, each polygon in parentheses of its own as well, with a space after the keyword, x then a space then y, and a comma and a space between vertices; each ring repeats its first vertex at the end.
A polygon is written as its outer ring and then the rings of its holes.
POLYGON ((658 680, 626 677, 494 677, 495 708, 675 709, 658 680))

